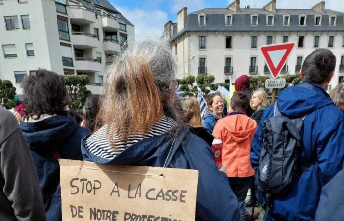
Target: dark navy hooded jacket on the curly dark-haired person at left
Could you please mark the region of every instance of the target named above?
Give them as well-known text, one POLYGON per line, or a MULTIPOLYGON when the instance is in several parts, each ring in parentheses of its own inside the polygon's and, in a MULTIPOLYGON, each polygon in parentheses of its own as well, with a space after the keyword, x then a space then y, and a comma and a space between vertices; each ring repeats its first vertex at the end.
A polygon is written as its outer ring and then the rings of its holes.
POLYGON ((61 221, 59 164, 53 152, 57 151, 61 158, 82 160, 80 141, 90 132, 68 116, 22 122, 20 128, 36 166, 47 221, 61 221))

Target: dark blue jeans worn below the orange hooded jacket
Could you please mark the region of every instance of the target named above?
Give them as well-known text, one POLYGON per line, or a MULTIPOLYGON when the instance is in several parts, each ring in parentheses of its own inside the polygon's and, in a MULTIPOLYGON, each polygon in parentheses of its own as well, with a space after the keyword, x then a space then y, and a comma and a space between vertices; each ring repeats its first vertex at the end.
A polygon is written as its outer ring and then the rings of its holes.
POLYGON ((232 188, 234 194, 238 198, 240 219, 239 221, 245 221, 246 216, 249 212, 246 209, 245 199, 247 196, 247 191, 250 188, 250 182, 252 177, 228 177, 230 187, 232 188))

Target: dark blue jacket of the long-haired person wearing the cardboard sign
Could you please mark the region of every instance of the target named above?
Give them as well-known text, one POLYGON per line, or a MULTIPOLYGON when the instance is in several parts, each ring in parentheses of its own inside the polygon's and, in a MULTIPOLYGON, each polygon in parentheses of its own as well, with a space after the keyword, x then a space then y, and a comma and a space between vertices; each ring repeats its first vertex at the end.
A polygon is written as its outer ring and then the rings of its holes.
POLYGON ((135 143, 113 160, 97 157, 84 148, 87 136, 82 140, 82 153, 84 160, 100 164, 163 167, 166 161, 166 167, 198 170, 196 220, 237 221, 237 199, 226 174, 216 167, 209 145, 187 127, 178 134, 173 145, 171 133, 166 133, 135 143))

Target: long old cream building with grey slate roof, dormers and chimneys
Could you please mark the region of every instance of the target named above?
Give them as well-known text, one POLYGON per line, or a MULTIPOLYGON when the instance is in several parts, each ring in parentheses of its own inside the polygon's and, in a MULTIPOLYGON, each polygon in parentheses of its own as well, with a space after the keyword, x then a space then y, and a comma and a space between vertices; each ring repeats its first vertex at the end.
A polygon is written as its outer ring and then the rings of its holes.
POLYGON ((298 73, 307 55, 328 48, 337 58, 330 85, 344 79, 344 13, 325 10, 324 1, 311 9, 276 9, 276 0, 263 9, 240 8, 240 0, 190 14, 182 8, 163 37, 177 56, 178 78, 208 74, 218 83, 242 74, 271 76, 260 46, 295 42, 282 75, 298 73))

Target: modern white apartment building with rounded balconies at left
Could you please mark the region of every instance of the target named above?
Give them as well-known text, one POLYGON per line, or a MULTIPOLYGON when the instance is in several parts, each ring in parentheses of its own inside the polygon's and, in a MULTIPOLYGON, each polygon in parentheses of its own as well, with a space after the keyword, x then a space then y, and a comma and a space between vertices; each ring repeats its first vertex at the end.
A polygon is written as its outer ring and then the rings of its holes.
POLYGON ((134 26, 107 0, 0 0, 0 79, 20 82, 44 68, 86 74, 99 94, 104 70, 134 26))

